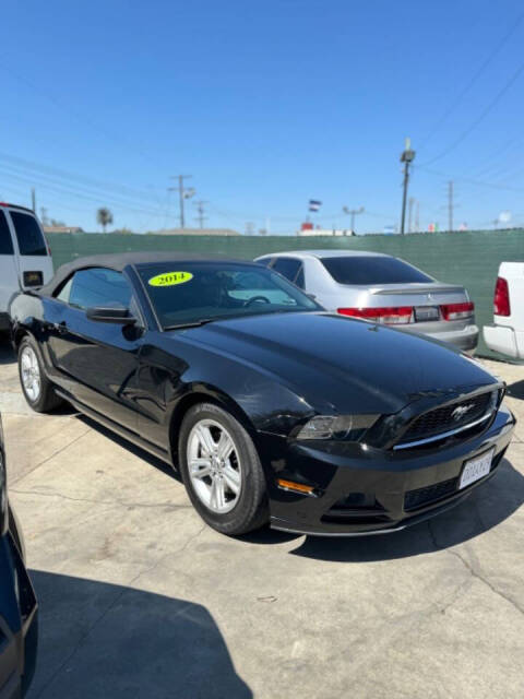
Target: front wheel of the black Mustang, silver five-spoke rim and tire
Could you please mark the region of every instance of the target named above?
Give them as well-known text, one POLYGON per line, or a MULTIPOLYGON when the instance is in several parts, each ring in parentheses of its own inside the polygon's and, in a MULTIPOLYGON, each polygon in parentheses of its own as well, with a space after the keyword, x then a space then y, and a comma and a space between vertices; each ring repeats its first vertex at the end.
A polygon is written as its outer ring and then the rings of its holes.
POLYGON ((178 458, 188 495, 201 518, 236 536, 267 523, 265 477, 242 425, 213 403, 199 403, 180 428, 178 458))

